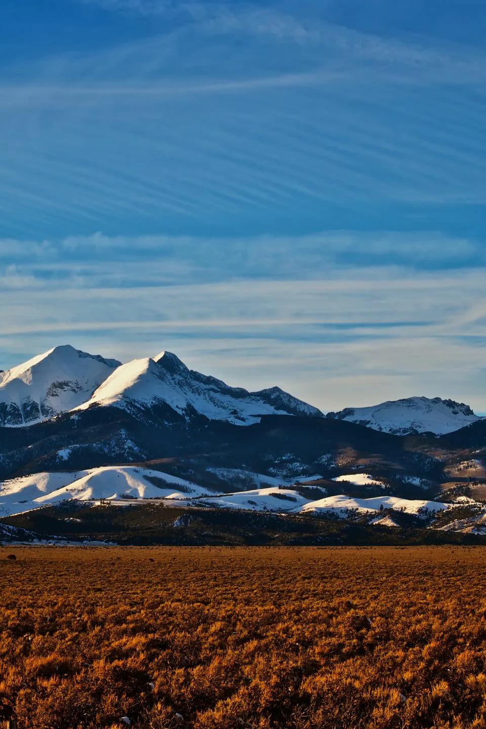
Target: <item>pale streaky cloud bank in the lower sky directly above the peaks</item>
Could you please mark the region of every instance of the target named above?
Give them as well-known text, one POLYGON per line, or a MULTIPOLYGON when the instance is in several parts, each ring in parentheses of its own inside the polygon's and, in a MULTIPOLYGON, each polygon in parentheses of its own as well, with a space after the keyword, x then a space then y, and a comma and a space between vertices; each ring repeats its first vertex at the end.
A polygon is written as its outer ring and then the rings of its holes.
POLYGON ((63 341, 122 359, 165 347, 233 383, 278 382, 323 408, 424 392, 472 397, 484 409, 486 260, 479 265, 474 240, 427 241, 337 231, 0 243, 22 251, 0 273, 0 306, 9 308, 0 366, 63 341), (474 266, 455 265, 459 246, 474 266), (359 249, 369 258, 357 266, 347 259, 359 249), (414 261, 420 249, 428 270, 414 261), (362 378, 371 393, 359 391, 362 378))

